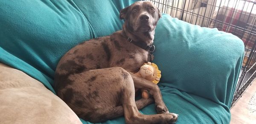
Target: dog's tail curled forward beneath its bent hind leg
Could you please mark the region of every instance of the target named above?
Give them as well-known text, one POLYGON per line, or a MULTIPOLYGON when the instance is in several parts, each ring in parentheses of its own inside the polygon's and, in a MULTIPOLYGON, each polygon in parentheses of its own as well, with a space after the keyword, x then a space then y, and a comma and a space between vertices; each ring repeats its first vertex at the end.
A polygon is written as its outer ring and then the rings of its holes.
MULTIPOLYGON (((135 101, 136 106, 138 110, 142 109, 143 107, 147 106, 148 104, 151 104, 154 102, 154 99, 139 99, 135 101)), ((124 115, 124 110, 122 106, 117 106, 109 110, 108 112, 105 112, 102 115, 94 116, 95 118, 90 118, 90 122, 98 123, 98 122, 104 122, 113 118, 117 118, 124 115)))

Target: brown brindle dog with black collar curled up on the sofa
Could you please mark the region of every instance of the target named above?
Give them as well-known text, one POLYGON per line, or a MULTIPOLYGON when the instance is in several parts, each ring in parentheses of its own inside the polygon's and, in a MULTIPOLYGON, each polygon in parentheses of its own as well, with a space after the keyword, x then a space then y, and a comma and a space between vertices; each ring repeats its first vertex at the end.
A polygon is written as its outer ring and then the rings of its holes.
POLYGON ((161 13, 151 2, 136 2, 120 11, 122 31, 83 42, 65 54, 55 72, 57 95, 80 117, 93 123, 124 115, 129 124, 168 124, 169 113, 159 87, 134 75, 150 61, 154 29, 161 13), (154 99, 135 101, 135 88, 154 99), (157 115, 139 110, 155 102, 157 115))

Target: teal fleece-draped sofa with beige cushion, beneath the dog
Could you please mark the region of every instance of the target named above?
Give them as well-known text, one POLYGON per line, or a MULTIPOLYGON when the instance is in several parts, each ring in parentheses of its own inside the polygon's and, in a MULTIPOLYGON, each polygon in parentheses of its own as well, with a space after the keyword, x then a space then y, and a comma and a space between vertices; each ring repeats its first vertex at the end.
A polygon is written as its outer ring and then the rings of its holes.
MULTIPOLYGON (((0 123, 90 124, 55 95, 56 65, 80 42, 121 30, 119 11, 135 1, 0 0, 0 123)), ((158 86, 177 124, 229 124, 242 40, 162 14, 154 45, 158 86)), ((154 104, 140 113, 156 114, 154 104)))

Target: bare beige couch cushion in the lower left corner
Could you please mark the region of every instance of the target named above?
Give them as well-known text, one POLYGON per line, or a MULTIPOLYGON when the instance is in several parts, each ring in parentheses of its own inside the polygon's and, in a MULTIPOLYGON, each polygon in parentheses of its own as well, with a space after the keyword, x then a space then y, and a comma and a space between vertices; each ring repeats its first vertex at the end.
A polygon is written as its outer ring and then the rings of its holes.
POLYGON ((0 124, 81 124, 41 82, 0 63, 0 124))

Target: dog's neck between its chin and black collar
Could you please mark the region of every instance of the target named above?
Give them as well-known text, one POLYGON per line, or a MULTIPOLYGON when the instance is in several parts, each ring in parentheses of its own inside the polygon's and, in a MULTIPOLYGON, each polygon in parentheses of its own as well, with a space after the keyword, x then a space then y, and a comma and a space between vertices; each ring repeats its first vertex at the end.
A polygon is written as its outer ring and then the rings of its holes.
MULTIPOLYGON (((125 23, 126 24, 126 23, 125 23)), ((154 29, 148 32, 134 32, 130 31, 131 29, 123 25, 122 33, 124 36, 132 39, 134 42, 144 42, 147 45, 151 45, 154 40, 154 29)))

